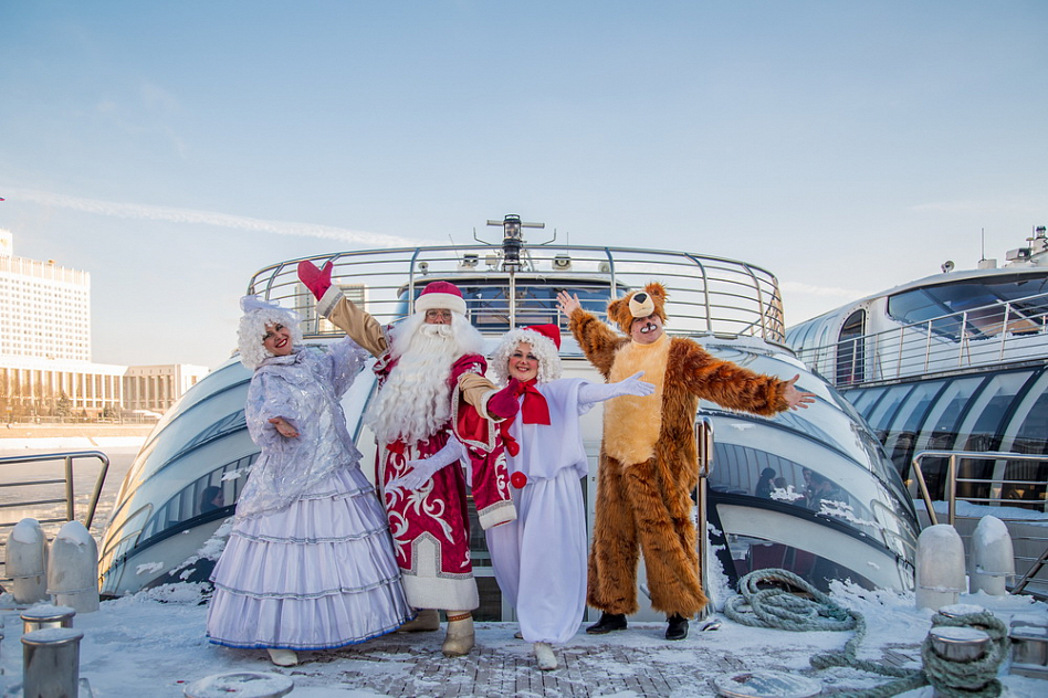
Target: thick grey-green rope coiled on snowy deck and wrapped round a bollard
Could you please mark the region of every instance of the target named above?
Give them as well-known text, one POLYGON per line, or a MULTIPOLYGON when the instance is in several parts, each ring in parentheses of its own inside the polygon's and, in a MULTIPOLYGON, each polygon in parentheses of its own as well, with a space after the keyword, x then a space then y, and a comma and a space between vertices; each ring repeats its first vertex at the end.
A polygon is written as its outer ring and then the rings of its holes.
POLYGON ((991 637, 991 648, 983 657, 972 662, 954 662, 940 655, 931 636, 924 638, 921 657, 923 670, 903 669, 878 662, 860 659, 859 645, 866 637, 866 618, 834 602, 828 595, 787 570, 758 570, 738 580, 738 595, 724 604, 724 615, 736 623, 751 627, 772 627, 795 632, 849 631, 855 635, 845 643, 840 652, 827 652, 811 657, 816 669, 851 667, 889 676, 899 680, 874 688, 835 692, 834 698, 888 698, 903 691, 931 684, 951 698, 997 698, 1000 683, 997 668, 1008 653, 1008 631, 992 613, 971 613, 946 616, 936 613, 933 625, 966 626, 985 632, 991 637), (810 599, 797 596, 787 589, 757 589, 759 582, 777 582, 808 594, 810 599))

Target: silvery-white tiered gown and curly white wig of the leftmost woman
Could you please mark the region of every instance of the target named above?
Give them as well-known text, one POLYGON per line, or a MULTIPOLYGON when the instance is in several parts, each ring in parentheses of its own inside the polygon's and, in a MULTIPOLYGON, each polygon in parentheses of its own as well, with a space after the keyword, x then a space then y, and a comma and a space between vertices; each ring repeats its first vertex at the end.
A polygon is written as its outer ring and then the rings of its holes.
MULTIPOLYGON (((262 453, 211 578, 208 635, 229 647, 296 651, 395 631, 412 611, 338 402, 367 352, 349 338, 326 352, 304 348, 294 313, 252 296, 241 306, 240 358, 254 370, 245 420, 262 453), (291 351, 273 356, 261 342, 268 326, 281 325, 291 351), (297 435, 279 433, 277 417, 297 435)), ((283 656, 294 663, 293 653, 283 656)))

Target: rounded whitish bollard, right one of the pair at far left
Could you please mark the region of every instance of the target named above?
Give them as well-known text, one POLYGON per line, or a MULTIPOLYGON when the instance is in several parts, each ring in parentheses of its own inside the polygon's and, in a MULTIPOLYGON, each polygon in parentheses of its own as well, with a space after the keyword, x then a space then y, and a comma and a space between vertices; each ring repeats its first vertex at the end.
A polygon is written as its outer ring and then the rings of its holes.
POLYGON ((80 521, 70 521, 51 543, 48 593, 77 613, 98 610, 98 543, 80 521))

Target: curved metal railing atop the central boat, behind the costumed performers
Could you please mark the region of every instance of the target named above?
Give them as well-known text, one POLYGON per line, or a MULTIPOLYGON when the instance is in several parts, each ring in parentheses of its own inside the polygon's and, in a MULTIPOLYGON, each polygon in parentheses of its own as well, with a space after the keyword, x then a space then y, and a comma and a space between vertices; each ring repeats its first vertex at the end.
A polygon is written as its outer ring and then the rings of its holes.
POLYGON ((248 293, 277 300, 303 318, 306 336, 340 335, 314 311, 297 265, 332 262, 333 283, 380 324, 402 319, 431 281, 449 281, 463 293, 482 331, 504 332, 535 324, 566 325, 557 309, 562 289, 577 294, 600 316, 609 300, 661 283, 669 295, 667 331, 678 335, 785 339, 778 281, 761 267, 684 252, 580 245, 537 245, 510 258, 503 247, 444 245, 337 252, 290 260, 258 272, 248 293))

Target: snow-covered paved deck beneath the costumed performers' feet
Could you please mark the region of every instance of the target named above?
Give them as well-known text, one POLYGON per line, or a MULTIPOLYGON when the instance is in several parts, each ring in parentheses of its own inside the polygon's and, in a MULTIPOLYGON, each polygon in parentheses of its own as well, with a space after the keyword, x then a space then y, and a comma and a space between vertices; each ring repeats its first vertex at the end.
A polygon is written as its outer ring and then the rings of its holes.
MULTIPOLYGON (((816 671, 813 654, 840 649, 851 632, 792 633, 752 628, 722 620, 720 630, 700 632, 696 623, 681 642, 662 638, 663 624, 631 623, 606 636, 580 632, 557 648, 560 668, 542 673, 531 647, 513 638, 511 623, 478 624, 478 647, 468 657, 444 659, 442 633, 387 635, 336 652, 303 654, 303 663, 277 669, 262 651, 210 645, 203 636, 203 589, 178 584, 102 604, 81 614, 80 675, 95 698, 177 697, 202 677, 233 671, 279 671, 295 681, 294 697, 350 696, 714 696, 713 679, 724 673, 777 669, 821 681, 824 695, 845 688, 870 688, 889 679, 856 669, 816 671)), ((869 623, 860 657, 911 668, 928 634, 931 612, 914 609, 913 596, 838 586, 834 600, 861 613, 869 623)), ((0 646, 0 686, 4 697, 21 696, 20 610, 0 596, 6 635, 0 646), (3 603, 7 601, 7 603, 3 603)), ((1048 623, 1048 606, 1029 597, 966 595, 963 603, 992 610, 1008 624, 1029 616, 1048 623)), ((1013 676, 1000 668, 1005 696, 1048 695, 1048 680, 1013 676)), ((924 688, 908 698, 931 698, 924 688)))

